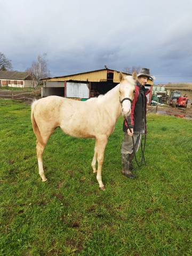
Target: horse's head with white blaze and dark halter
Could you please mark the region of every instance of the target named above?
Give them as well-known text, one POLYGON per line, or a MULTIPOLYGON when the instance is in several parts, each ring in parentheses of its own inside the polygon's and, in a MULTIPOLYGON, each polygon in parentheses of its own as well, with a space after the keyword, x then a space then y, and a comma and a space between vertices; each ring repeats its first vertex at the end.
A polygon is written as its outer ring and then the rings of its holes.
POLYGON ((137 73, 133 73, 132 76, 124 76, 120 73, 119 79, 119 100, 122 106, 122 115, 127 117, 131 114, 131 104, 134 98, 135 79, 137 79, 137 73))

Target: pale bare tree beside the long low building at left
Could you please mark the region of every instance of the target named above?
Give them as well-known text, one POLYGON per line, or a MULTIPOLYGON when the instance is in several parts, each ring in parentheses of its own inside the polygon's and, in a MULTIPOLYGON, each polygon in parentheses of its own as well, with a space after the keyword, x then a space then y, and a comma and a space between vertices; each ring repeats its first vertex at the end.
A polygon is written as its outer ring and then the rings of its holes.
POLYGON ((31 75, 35 89, 41 84, 42 78, 51 76, 50 71, 47 69, 46 55, 46 53, 38 55, 37 60, 33 61, 31 67, 26 70, 31 75))

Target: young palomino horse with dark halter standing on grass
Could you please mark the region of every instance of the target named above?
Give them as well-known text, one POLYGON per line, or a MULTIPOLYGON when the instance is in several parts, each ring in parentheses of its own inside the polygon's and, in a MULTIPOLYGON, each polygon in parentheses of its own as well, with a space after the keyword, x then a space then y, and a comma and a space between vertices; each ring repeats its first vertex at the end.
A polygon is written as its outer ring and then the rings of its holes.
POLYGON ((42 181, 47 180, 43 170, 43 151, 51 134, 59 126, 63 132, 73 137, 95 139, 91 165, 93 172, 97 172, 99 187, 105 190, 101 169, 107 140, 114 131, 121 113, 124 117, 130 115, 131 101, 134 97, 135 77, 124 76, 120 73, 119 78, 118 85, 98 98, 83 102, 49 96, 32 104, 31 121, 37 138, 36 152, 42 181), (96 169, 97 162, 98 170, 96 169))

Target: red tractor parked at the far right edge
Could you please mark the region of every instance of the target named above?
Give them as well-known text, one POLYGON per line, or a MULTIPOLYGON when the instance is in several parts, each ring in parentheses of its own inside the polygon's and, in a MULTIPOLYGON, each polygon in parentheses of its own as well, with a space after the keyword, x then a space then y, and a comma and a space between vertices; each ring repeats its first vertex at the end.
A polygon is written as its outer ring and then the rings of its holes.
POLYGON ((172 107, 182 106, 185 108, 190 108, 191 101, 184 95, 181 96, 180 92, 171 92, 170 98, 167 99, 167 103, 172 107))

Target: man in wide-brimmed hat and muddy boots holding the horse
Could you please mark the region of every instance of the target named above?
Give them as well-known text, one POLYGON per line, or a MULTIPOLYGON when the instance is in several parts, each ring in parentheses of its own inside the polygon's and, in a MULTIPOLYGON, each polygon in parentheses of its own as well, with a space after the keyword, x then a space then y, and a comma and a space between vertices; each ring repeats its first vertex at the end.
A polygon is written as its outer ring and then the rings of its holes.
POLYGON ((142 134, 146 134, 146 95, 150 92, 150 90, 146 89, 145 85, 149 78, 153 80, 149 69, 141 68, 139 74, 137 75, 137 81, 135 84, 135 93, 131 106, 131 114, 123 122, 124 140, 121 149, 123 167, 122 174, 130 179, 135 178, 135 175, 132 173, 132 161, 134 157, 132 137, 134 139, 136 153, 141 145, 142 134))

